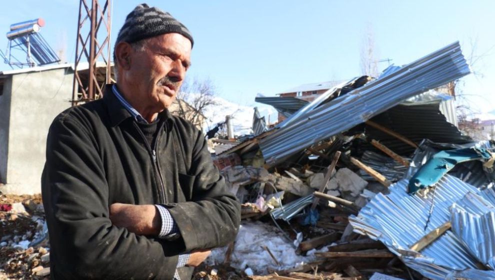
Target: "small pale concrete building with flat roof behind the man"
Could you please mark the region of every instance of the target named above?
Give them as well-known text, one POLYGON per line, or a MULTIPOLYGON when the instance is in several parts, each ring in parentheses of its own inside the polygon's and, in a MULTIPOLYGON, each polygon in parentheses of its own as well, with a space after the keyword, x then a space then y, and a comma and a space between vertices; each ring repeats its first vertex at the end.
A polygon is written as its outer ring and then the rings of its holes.
POLYGON ((0 71, 1 192, 40 192, 48 128, 71 105, 73 73, 69 63, 0 71))

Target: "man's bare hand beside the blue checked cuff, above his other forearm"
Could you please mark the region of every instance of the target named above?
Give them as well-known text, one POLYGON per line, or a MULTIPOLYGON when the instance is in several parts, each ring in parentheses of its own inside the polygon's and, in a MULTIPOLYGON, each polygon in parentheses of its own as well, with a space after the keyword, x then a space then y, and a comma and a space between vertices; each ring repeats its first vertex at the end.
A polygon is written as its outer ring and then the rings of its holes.
POLYGON ((154 205, 113 203, 109 210, 110 221, 115 226, 139 235, 158 235, 160 232, 161 217, 154 205))

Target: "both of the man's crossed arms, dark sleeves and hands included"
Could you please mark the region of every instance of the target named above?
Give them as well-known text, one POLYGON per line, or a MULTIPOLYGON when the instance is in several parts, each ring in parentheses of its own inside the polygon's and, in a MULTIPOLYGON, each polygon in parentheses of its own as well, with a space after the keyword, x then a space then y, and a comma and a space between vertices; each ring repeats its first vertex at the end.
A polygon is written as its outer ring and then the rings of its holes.
POLYGON ((194 182, 192 201, 165 205, 180 231, 177 242, 153 237, 160 223, 154 205, 108 204, 94 137, 84 122, 70 116, 57 117, 48 133, 41 187, 56 278, 171 279, 178 254, 192 252, 188 264, 196 265, 207 248, 234 238, 240 205, 208 169, 204 141, 193 151, 198 164, 192 172, 204 179, 194 182), (196 232, 198 225, 201 232, 196 232))

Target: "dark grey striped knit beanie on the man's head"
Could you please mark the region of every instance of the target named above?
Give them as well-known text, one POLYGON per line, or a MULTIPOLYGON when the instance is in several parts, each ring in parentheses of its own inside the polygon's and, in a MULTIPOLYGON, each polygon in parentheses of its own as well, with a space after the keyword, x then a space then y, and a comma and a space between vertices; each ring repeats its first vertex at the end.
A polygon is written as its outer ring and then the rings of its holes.
POLYGON ((122 28, 118 31, 115 45, 120 41, 133 43, 166 33, 179 33, 191 41, 191 46, 194 44, 189 30, 177 19, 168 12, 142 3, 125 18, 122 28))

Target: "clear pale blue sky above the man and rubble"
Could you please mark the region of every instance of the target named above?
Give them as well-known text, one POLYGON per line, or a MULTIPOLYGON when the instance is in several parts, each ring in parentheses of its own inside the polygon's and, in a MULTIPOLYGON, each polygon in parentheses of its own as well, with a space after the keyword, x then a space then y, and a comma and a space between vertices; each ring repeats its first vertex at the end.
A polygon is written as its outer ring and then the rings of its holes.
MULTIPOLYGON (((112 45, 126 14, 138 3, 113 0, 112 45)), ((377 58, 401 65, 459 40, 465 55, 483 55, 476 75, 460 90, 478 112, 495 110, 495 1, 158 1, 192 32, 190 76, 211 78, 218 94, 243 105, 254 96, 302 83, 343 80, 360 74, 366 30, 372 30, 377 58)), ((73 62, 78 0, 2 2, 0 30, 43 17, 41 34, 73 62), (5 12, 8 11, 8 12, 5 12)), ((0 36, 0 46, 7 44, 0 36)), ((4 50, 4 49, 2 49, 4 50)), ((379 63, 379 69, 388 65, 379 63)), ((0 69, 8 65, 1 64, 0 69)), ((465 101, 464 101, 465 102, 465 101)))

